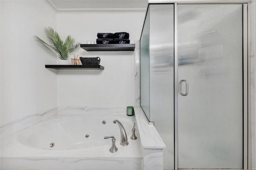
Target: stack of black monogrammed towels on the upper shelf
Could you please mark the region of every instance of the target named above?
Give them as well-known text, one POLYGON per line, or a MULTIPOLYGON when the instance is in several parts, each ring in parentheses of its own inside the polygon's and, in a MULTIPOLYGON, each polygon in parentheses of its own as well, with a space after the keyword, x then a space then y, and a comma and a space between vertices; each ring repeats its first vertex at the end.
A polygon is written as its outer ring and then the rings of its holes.
POLYGON ((110 43, 130 43, 129 33, 128 32, 116 32, 112 33, 98 33, 98 39, 96 40, 97 44, 110 44, 110 43))

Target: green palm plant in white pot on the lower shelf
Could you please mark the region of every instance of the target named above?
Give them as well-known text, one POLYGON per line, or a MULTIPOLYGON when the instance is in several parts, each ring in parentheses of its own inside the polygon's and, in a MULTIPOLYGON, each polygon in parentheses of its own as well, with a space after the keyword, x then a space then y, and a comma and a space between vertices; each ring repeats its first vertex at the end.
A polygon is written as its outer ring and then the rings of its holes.
POLYGON ((71 52, 76 51, 77 47, 80 45, 80 42, 76 43, 76 40, 72 38, 70 35, 67 36, 65 42, 61 40, 59 34, 54 31, 51 27, 45 27, 44 33, 51 44, 48 44, 41 40, 38 36, 34 36, 35 41, 42 44, 44 47, 58 53, 58 57, 60 58, 60 64, 69 64, 68 56, 71 52))

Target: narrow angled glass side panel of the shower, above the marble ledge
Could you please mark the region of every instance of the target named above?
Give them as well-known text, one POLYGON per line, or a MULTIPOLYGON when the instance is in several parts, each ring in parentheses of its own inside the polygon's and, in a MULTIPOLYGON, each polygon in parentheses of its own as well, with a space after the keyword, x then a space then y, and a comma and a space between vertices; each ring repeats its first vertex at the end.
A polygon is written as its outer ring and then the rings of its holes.
POLYGON ((149 109, 149 10, 146 14, 140 38, 140 106, 150 120, 149 109))

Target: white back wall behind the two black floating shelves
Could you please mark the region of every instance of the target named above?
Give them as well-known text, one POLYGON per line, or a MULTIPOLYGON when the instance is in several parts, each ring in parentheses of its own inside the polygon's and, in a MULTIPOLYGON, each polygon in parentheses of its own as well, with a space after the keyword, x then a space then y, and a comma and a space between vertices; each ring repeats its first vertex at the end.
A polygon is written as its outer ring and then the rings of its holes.
MULTIPOLYGON (((145 13, 57 14, 57 29, 77 42, 96 42, 98 32, 129 32, 130 43, 140 39, 145 13)), ((58 106, 134 105, 134 51, 85 51, 81 57, 100 57, 104 70, 59 70, 58 106)), ((71 55, 72 57, 72 55, 71 55)))

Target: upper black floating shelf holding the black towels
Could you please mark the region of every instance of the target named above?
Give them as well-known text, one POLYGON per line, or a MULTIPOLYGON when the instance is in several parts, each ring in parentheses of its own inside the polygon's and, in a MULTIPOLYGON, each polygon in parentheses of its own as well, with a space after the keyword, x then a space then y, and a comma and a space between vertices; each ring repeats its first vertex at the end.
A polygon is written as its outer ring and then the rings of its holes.
POLYGON ((134 43, 125 44, 80 44, 86 51, 134 51, 134 43))

